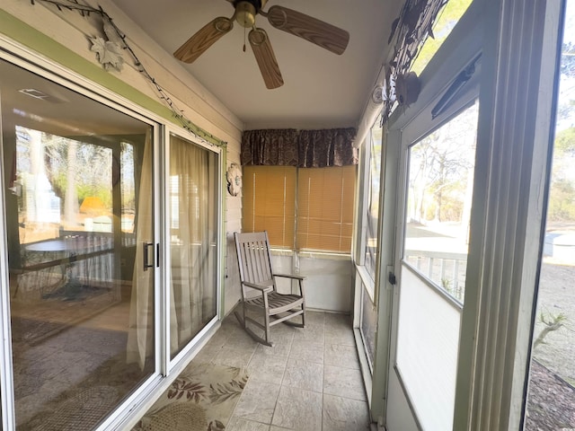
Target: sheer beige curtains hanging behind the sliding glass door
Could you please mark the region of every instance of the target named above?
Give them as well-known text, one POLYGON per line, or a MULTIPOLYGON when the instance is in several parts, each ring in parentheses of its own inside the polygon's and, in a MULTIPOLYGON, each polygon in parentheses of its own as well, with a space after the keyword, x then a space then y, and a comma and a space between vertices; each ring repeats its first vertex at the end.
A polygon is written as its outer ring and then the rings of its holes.
MULTIPOLYGON (((154 242, 152 145, 146 138, 137 198, 137 251, 134 266, 128 363, 146 365, 154 354, 154 269, 144 270, 144 244, 154 242)), ((177 137, 170 140, 168 206, 171 231, 170 351, 182 347, 216 315, 217 169, 216 155, 177 137)))

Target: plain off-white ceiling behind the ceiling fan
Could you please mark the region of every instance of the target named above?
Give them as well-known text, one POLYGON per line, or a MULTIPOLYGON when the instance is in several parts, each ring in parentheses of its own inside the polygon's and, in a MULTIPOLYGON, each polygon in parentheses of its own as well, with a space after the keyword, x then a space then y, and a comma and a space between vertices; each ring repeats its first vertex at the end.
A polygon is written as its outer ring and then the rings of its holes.
MULTIPOLYGON (((169 53, 217 16, 231 17, 226 0, 114 0, 169 53)), ((190 74, 252 128, 336 128, 356 126, 383 64, 391 22, 402 2, 394 0, 270 0, 349 31, 349 45, 337 56, 271 27, 258 15, 278 59, 285 84, 266 89, 243 27, 218 40, 193 64, 190 74)), ((183 65, 183 64, 182 64, 183 65)))

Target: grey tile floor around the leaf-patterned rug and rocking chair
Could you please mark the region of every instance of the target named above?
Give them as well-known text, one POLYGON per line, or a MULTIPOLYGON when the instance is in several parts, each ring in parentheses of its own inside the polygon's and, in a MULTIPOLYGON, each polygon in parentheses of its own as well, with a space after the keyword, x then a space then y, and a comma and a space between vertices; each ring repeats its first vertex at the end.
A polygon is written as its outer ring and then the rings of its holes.
POLYGON ((306 312, 306 327, 272 327, 274 347, 251 339, 233 314, 193 359, 247 367, 227 431, 369 429, 349 316, 306 312))

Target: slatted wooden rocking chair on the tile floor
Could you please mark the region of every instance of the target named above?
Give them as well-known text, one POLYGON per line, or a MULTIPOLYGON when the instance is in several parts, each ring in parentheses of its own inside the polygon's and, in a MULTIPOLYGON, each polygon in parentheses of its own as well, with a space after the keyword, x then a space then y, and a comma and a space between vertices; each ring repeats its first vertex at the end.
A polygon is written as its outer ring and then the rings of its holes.
POLYGON ((242 314, 234 312, 235 317, 242 323, 253 339, 273 346, 270 339, 270 327, 283 321, 289 325, 304 328, 305 326, 305 299, 302 285, 305 277, 291 274, 274 274, 271 271, 270 242, 267 232, 234 233, 237 263, 240 268, 240 281, 242 283, 242 314), (297 280, 299 295, 280 294, 276 286, 276 277, 285 277, 297 280), (253 295, 259 291, 258 295, 253 295), (252 294, 252 295, 250 295, 252 294), (249 315, 257 312, 262 320, 256 321, 249 315), (301 323, 288 321, 301 316, 301 323), (265 339, 258 336, 247 323, 250 322, 265 331, 265 339))

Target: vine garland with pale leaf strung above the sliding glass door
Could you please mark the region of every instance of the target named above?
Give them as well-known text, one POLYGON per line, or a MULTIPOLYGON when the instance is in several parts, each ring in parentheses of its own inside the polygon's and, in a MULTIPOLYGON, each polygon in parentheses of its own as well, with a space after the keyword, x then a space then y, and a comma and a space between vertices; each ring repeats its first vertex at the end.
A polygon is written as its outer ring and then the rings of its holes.
POLYGON ((163 101, 170 110, 172 110, 174 119, 180 123, 182 128, 185 128, 193 136, 198 137, 209 145, 217 145, 215 144, 217 142, 220 143, 217 146, 226 145, 225 142, 219 140, 216 136, 213 136, 205 130, 194 125, 191 120, 183 114, 183 110, 180 110, 176 106, 175 102, 164 90, 162 85, 158 84, 154 76, 149 74, 149 72, 146 70, 146 67, 137 57, 134 49, 129 46, 126 34, 119 30, 119 27, 115 22, 112 21, 111 16, 102 9, 102 6, 95 8, 88 4, 80 4, 78 0, 31 0, 32 5, 35 5, 36 2, 52 4, 56 6, 57 10, 60 12, 66 9, 68 11, 76 11, 82 16, 90 16, 90 13, 97 13, 102 16, 103 31, 108 40, 104 40, 100 37, 90 38, 93 43, 92 50, 96 52, 96 55, 102 66, 104 66, 106 70, 109 70, 111 67, 115 68, 116 70, 121 70, 123 58, 121 57, 121 52, 119 52, 119 50, 127 50, 130 57, 132 57, 134 60, 134 66, 137 67, 138 72, 144 75, 144 77, 146 77, 146 79, 154 85, 158 98, 163 101))

